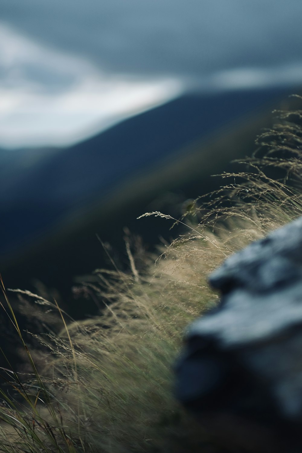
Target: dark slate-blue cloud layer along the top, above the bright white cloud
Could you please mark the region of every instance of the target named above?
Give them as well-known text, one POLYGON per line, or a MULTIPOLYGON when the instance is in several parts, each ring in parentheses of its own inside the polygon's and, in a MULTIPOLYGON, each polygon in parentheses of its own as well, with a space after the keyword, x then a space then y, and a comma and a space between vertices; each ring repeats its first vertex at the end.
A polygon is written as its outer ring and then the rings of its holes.
POLYGON ((2 0, 3 21, 102 69, 198 78, 301 60, 300 0, 2 0))

